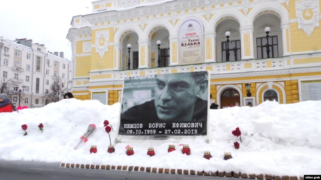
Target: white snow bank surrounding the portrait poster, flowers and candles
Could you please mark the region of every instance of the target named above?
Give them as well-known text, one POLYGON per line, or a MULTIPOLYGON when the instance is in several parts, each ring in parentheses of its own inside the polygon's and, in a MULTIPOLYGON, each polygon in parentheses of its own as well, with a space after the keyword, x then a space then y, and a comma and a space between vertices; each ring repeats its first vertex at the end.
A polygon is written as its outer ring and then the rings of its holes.
POLYGON ((109 106, 97 100, 64 99, 38 109, 0 113, 0 159, 274 176, 321 174, 321 101, 267 101, 256 107, 210 110, 208 144, 204 136, 186 136, 180 142, 117 143, 115 153, 110 154, 103 122, 107 119, 113 126, 110 135, 114 144, 119 107, 120 103, 109 106), (26 136, 23 124, 28 126, 26 136), (74 150, 89 124, 95 124, 96 130, 88 142, 74 150), (242 133, 242 143, 231 133, 236 127, 242 133), (233 147, 235 141, 240 143, 238 150, 233 147), (168 153, 169 144, 174 144, 176 151, 168 153), (180 144, 189 144, 191 155, 182 154, 180 144), (97 153, 90 154, 91 145, 97 145, 97 153), (126 155, 127 145, 134 148, 134 155, 126 155), (146 154, 149 147, 154 148, 155 156, 146 154), (211 151, 213 158, 203 158, 204 151, 211 151), (233 158, 223 160, 224 152, 231 152, 233 158))

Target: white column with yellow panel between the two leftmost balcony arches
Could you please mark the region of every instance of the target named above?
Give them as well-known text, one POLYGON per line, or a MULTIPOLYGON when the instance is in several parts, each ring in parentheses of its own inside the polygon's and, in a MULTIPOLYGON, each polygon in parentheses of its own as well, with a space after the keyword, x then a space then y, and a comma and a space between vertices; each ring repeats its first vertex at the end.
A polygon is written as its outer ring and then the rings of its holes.
POLYGON ((138 68, 149 68, 150 65, 150 51, 151 51, 151 40, 150 39, 139 39, 139 62, 138 68))

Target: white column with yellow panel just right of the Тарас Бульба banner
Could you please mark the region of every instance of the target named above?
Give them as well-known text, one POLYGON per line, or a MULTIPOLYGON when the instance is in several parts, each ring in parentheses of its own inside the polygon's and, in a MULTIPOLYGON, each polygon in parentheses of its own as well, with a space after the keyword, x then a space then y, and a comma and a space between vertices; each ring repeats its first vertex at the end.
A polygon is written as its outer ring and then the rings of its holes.
POLYGON ((215 59, 215 30, 204 31, 204 62, 216 62, 215 59))

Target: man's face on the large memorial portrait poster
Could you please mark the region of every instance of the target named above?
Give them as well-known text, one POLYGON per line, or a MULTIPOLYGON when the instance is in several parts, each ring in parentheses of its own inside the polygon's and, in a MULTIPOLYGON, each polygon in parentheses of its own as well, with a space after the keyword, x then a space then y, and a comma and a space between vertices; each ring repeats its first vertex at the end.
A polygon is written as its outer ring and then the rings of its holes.
POLYGON ((155 107, 160 120, 179 120, 193 112, 199 91, 190 74, 166 74, 156 77, 155 107))

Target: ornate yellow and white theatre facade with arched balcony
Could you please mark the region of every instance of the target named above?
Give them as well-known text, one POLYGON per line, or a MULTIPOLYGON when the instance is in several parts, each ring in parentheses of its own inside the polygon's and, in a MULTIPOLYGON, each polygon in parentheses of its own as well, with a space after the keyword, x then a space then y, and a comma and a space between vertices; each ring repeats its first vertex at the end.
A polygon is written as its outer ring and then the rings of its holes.
POLYGON ((319 12, 319 0, 95 1, 67 35, 72 93, 111 105, 126 76, 208 70, 219 108, 321 100, 319 12))

